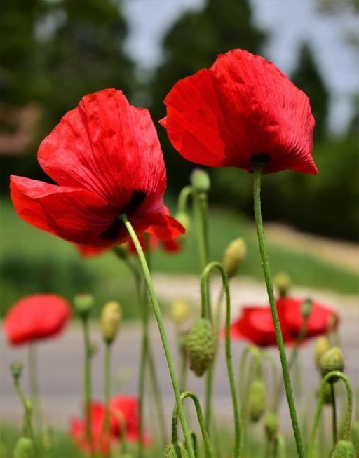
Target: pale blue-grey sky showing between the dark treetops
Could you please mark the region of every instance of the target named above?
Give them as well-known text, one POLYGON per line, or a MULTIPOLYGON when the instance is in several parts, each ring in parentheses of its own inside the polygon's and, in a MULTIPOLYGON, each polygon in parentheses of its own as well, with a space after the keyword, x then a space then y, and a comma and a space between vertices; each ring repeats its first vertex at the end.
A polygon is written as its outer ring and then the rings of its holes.
MULTIPOLYGON (((314 0, 250 2, 256 24, 270 32, 266 56, 286 74, 296 64, 302 41, 310 41, 332 93, 330 128, 343 132, 353 113, 353 95, 359 92, 358 48, 345 43, 343 30, 358 30, 359 18, 350 13, 323 16, 314 0)), ((130 27, 126 46, 140 69, 154 68, 161 61, 161 40, 179 15, 203 4, 204 0, 123 0, 130 27)))

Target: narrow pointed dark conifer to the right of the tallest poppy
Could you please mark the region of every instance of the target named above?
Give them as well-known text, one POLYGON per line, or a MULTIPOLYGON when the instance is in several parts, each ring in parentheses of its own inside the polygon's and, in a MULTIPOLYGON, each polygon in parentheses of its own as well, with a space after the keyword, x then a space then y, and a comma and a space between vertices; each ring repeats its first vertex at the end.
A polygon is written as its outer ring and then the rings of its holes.
POLYGON ((298 65, 292 73, 291 80, 308 95, 311 101, 311 109, 316 119, 314 138, 318 140, 325 137, 330 102, 329 93, 308 43, 303 43, 299 49, 298 65))

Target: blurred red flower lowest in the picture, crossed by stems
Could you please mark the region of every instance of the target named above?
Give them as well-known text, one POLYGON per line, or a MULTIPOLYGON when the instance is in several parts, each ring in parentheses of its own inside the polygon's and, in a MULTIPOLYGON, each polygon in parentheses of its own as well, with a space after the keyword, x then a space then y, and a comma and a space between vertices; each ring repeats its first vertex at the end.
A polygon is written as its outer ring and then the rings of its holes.
MULTIPOLYGON (((110 437, 104 433, 105 408, 102 403, 93 402, 91 405, 92 438, 91 447, 86 440, 85 422, 82 419, 72 419, 70 424, 70 436, 76 445, 85 453, 89 454, 91 448, 97 453, 107 454, 109 443, 118 440, 121 436, 121 428, 125 426, 125 439, 128 442, 139 440, 138 431, 138 401, 133 396, 118 395, 110 401, 110 437)), ((145 434, 144 445, 149 445, 149 436, 145 434)))

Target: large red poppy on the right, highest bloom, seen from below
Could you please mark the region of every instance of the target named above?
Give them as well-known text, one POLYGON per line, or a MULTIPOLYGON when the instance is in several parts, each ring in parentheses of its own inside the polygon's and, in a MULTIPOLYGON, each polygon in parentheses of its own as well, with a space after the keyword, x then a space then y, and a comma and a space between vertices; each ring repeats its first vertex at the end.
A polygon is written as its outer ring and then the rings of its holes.
POLYGON ((309 99, 271 62, 235 49, 178 81, 161 124, 179 154, 212 167, 318 173, 309 99), (257 156, 257 157, 256 157, 257 156))

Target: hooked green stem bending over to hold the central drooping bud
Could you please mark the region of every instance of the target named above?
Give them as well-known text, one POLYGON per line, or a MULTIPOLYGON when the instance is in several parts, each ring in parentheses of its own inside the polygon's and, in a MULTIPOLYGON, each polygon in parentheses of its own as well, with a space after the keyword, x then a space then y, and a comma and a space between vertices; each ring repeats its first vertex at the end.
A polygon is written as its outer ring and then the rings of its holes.
MULTIPOLYGON (((219 271, 219 274, 222 278, 222 285, 224 288, 224 293, 226 295, 226 336, 225 336, 225 349, 226 349, 226 365, 229 378, 229 386, 231 389, 231 397, 233 404, 233 417, 234 417, 234 447, 233 447, 233 458, 239 457, 239 448, 241 442, 241 429, 239 422, 239 411, 238 411, 238 399, 236 392, 236 382, 233 375, 233 365, 232 365, 232 356, 231 356, 231 296, 229 294, 229 282, 224 271, 222 264, 220 262, 210 262, 202 272, 201 276, 201 297, 202 297, 202 314, 208 310, 210 311, 210 292, 208 280, 212 270, 219 271)), ((208 400, 208 399, 207 399, 208 400)), ((208 404, 208 406, 210 403, 208 404)), ((210 422, 210 417, 206 418, 206 428, 208 429, 208 424, 210 422)))

